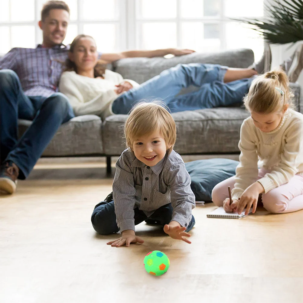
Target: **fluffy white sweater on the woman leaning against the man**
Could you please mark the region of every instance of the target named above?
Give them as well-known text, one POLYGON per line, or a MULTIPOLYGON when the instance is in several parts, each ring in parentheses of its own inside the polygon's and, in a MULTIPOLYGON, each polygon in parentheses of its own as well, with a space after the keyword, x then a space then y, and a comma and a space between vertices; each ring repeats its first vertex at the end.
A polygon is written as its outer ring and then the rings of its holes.
MULTIPOLYGON (((89 78, 76 72, 63 72, 59 82, 59 91, 68 97, 76 116, 98 115, 106 118, 112 113, 112 102, 121 94, 115 93, 115 85, 128 81, 133 87, 139 84, 106 69, 104 79, 89 78)), ((123 93, 122 93, 123 94, 123 93)))

